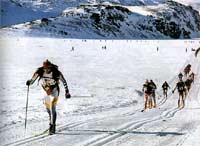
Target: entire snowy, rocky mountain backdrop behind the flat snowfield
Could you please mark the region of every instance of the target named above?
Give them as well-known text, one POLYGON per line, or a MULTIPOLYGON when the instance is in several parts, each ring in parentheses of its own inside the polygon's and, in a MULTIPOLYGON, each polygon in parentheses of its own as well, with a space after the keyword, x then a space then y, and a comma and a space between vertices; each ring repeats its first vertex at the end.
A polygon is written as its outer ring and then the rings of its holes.
POLYGON ((200 37, 199 12, 171 0, 3 0, 1 5, 1 26, 29 22, 11 28, 31 36, 41 31, 82 39, 200 37))

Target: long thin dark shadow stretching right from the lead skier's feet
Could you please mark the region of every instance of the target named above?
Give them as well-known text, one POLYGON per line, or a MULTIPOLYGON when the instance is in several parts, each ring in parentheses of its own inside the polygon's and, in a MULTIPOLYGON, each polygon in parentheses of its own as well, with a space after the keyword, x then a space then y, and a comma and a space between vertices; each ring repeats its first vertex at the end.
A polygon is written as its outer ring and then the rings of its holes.
POLYGON ((125 131, 125 130, 98 130, 98 129, 93 129, 93 130, 67 130, 66 132, 58 132, 56 134, 62 134, 62 135, 94 135, 94 134, 99 134, 99 133, 107 133, 110 135, 113 134, 140 134, 140 135, 156 135, 156 136, 181 136, 185 135, 185 133, 180 133, 180 132, 140 132, 140 131, 125 131))

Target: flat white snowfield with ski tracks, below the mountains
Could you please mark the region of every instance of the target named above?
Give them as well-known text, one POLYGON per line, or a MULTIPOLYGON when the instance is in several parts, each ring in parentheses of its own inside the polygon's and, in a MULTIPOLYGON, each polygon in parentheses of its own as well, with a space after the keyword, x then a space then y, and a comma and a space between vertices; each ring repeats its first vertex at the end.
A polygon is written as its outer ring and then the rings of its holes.
POLYGON ((1 145, 198 146, 200 58, 191 49, 198 48, 199 42, 1 38, 1 145), (102 49, 105 45, 107 49, 102 49), (48 128, 43 91, 37 82, 30 88, 24 129, 25 83, 47 58, 59 65, 72 94, 64 99, 61 85, 57 133, 52 136, 37 135, 48 128), (163 99, 161 85, 167 80, 174 88, 177 74, 188 63, 195 82, 186 107, 180 110, 178 94, 163 99), (158 86, 158 107, 142 113, 145 79, 153 79, 158 86))

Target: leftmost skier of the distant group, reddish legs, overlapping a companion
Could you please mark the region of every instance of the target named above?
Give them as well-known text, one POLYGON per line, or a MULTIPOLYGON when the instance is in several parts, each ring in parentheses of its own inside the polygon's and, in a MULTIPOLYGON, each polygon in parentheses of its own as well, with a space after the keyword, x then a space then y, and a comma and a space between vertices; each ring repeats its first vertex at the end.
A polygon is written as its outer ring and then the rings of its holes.
POLYGON ((153 88, 150 85, 149 81, 146 80, 146 82, 143 84, 143 89, 142 91, 144 92, 144 109, 149 109, 152 108, 152 92, 153 88))

